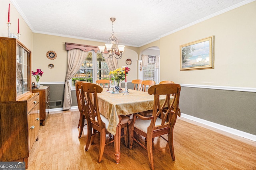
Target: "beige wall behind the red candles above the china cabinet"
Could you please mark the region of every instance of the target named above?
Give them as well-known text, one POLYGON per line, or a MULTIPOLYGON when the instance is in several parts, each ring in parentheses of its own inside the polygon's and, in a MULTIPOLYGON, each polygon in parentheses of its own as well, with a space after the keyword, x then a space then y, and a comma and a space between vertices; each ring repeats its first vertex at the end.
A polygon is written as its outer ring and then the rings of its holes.
MULTIPOLYGON (((33 33, 26 22, 20 16, 16 8, 10 0, 0 1, 0 37, 8 37, 7 21, 8 21, 8 7, 10 4, 10 33, 17 35, 18 33, 18 18, 20 19, 20 41, 32 51, 33 48, 33 33)), ((32 53, 33 58, 33 53, 32 53)))

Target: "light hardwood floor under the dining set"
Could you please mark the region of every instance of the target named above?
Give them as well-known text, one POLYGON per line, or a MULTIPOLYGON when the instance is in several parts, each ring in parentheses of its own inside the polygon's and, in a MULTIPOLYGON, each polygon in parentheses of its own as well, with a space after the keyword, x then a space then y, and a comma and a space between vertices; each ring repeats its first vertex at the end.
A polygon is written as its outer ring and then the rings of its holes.
MULTIPOLYGON (((147 151, 137 143, 126 148, 123 138, 119 164, 114 160, 114 143, 106 145, 102 162, 97 163, 99 143, 84 150, 87 126, 78 139, 78 119, 78 110, 49 114, 30 152, 28 170, 150 170, 147 151)), ((256 170, 256 142, 180 117, 174 127, 174 153, 172 161, 166 141, 155 138, 155 169, 256 170)))

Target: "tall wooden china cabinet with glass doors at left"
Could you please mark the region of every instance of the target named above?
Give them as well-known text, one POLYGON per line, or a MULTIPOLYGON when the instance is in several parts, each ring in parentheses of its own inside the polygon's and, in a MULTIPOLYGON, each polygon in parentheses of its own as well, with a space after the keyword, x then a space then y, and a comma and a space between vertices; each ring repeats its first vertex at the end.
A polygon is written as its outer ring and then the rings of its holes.
POLYGON ((39 94, 31 91, 31 52, 0 37, 0 161, 24 161, 38 139, 39 94))

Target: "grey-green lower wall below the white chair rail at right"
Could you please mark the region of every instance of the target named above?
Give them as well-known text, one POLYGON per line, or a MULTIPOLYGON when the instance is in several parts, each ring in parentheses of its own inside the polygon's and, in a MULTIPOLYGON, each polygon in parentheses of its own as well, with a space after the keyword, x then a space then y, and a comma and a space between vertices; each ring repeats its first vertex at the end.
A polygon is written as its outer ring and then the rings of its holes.
POLYGON ((181 113, 256 135, 256 93, 182 87, 181 113))

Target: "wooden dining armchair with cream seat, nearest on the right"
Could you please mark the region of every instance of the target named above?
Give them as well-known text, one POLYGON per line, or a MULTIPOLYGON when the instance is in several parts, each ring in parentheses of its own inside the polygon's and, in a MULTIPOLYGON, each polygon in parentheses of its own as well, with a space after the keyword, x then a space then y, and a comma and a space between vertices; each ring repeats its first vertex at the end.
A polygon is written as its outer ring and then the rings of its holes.
POLYGON ((155 137, 168 134, 168 144, 172 160, 175 160, 173 146, 173 129, 177 119, 180 116, 179 99, 180 84, 157 84, 148 88, 148 94, 154 94, 154 105, 152 116, 144 117, 138 113, 134 114, 129 124, 130 149, 133 141, 136 141, 143 148, 148 150, 148 160, 150 168, 154 170, 153 162, 153 139, 155 137), (174 95, 173 97, 171 95, 174 95), (165 101, 160 104, 160 95, 165 95, 165 101), (134 132, 147 139, 146 146, 134 137, 134 132))

